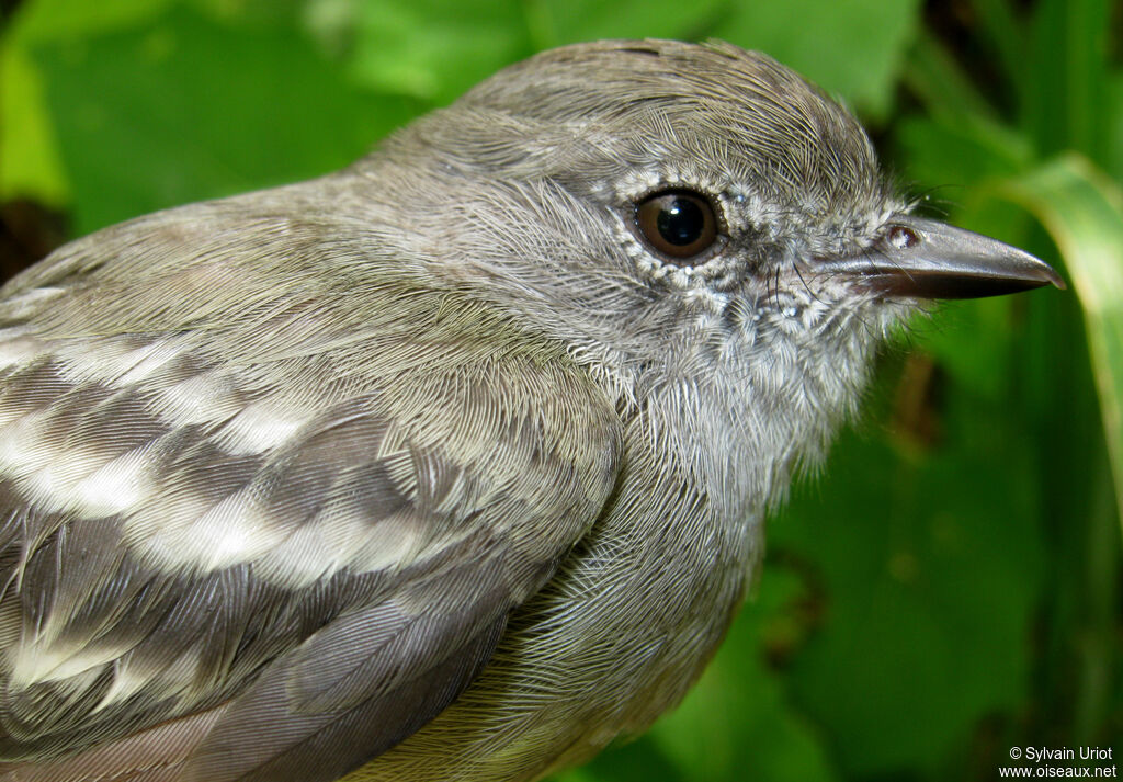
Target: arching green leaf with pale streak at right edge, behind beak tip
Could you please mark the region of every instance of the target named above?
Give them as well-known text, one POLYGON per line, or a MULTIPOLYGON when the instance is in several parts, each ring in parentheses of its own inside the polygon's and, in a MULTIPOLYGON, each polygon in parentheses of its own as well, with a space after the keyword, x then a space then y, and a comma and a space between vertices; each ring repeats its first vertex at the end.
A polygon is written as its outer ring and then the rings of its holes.
POLYGON ((1076 153, 998 190, 1046 226, 1080 297, 1123 519, 1123 192, 1076 153))

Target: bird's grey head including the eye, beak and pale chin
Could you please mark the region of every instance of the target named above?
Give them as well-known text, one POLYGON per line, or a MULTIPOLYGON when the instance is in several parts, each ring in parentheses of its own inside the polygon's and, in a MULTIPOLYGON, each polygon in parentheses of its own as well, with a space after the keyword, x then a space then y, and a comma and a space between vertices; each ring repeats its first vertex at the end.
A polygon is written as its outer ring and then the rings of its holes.
POLYGON ((725 44, 546 52, 364 166, 394 181, 435 279, 629 382, 733 388, 729 404, 794 419, 851 407, 873 348, 924 300, 1061 284, 909 215, 849 112, 725 44))

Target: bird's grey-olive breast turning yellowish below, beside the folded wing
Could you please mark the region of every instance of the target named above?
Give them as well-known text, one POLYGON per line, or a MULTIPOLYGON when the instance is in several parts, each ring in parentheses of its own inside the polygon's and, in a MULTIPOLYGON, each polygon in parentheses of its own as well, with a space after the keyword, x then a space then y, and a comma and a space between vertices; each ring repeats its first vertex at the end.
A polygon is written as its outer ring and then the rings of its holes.
POLYGON ((740 604, 761 519, 723 516, 665 422, 630 419, 612 500, 481 678, 347 782, 538 779, 685 695, 740 604))

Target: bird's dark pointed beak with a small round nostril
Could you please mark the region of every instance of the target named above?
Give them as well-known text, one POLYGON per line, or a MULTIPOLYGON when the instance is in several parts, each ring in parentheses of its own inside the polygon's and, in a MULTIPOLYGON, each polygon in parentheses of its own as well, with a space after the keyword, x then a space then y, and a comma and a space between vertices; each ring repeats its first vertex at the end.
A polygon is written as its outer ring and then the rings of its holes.
POLYGON ((1029 253, 962 228, 894 215, 860 255, 816 258, 815 271, 856 278, 877 293, 916 299, 977 299, 1065 281, 1029 253))

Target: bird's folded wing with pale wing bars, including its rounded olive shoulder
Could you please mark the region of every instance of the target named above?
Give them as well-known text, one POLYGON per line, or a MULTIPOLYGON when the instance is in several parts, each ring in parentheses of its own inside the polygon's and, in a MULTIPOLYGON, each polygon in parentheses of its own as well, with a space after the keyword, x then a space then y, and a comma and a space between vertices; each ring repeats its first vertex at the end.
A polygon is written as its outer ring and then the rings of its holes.
POLYGON ((471 682, 612 490, 608 397, 468 299, 58 313, 99 288, 0 303, 11 779, 335 779, 471 682))

